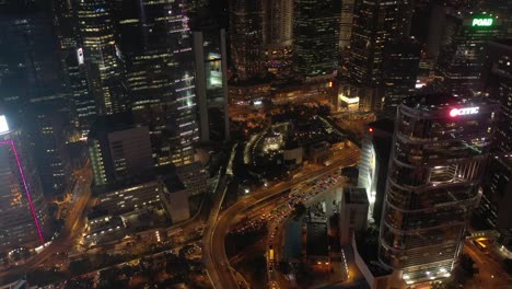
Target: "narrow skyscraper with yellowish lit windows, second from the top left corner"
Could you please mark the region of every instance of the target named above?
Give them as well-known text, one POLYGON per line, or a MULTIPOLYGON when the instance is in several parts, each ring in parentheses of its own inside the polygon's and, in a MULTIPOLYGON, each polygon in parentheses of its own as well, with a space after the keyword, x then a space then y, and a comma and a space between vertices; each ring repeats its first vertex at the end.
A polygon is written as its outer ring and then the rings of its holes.
POLYGON ((88 67, 89 85, 96 102, 97 115, 124 112, 125 88, 120 53, 115 42, 112 2, 77 1, 77 18, 83 50, 77 53, 88 67))

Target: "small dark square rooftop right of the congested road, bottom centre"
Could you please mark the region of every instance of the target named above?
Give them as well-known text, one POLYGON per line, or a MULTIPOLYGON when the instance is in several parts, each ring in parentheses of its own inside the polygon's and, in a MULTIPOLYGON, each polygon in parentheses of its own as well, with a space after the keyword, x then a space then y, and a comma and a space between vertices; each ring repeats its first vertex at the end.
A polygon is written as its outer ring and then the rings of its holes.
POLYGON ((306 232, 306 255, 328 256, 329 236, 327 235, 327 223, 307 222, 306 232))

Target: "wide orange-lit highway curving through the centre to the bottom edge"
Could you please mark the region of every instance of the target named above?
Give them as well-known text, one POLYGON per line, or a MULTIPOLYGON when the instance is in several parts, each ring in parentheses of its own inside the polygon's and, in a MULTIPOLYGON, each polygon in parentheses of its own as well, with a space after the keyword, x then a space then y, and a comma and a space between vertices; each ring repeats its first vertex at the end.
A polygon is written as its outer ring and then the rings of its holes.
POLYGON ((329 165, 315 167, 309 174, 301 174, 287 183, 279 183, 270 188, 261 188, 255 190, 252 195, 243 198, 220 213, 219 219, 210 219, 205 241, 205 263, 208 270, 208 276, 214 288, 234 289, 238 288, 237 281, 232 274, 224 246, 224 239, 228 234, 232 222, 236 217, 249 207, 264 203, 267 199, 282 194, 283 192, 314 178, 317 178, 331 171, 339 170, 344 166, 357 164, 359 161, 359 151, 353 148, 347 148, 340 155, 337 155, 329 165))

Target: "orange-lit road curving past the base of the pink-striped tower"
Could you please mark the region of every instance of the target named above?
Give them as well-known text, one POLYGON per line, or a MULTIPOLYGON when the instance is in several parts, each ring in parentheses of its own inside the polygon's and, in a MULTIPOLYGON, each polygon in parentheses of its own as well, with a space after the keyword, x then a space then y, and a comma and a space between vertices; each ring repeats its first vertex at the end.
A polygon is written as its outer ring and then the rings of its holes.
POLYGON ((10 270, 0 273, 0 278, 8 275, 23 275, 27 270, 44 264, 49 257, 58 252, 69 252, 73 246, 73 241, 77 240, 85 227, 86 206, 91 198, 92 171, 84 169, 78 174, 78 181, 73 188, 71 198, 71 208, 66 219, 66 223, 59 235, 51 241, 39 254, 30 258, 25 264, 11 268, 10 270))

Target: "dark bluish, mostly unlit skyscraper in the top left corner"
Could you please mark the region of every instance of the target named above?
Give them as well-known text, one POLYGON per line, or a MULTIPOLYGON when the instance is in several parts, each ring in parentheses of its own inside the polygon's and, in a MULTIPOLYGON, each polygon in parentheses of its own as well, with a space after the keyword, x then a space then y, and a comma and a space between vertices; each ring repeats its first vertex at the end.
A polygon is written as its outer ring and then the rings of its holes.
POLYGON ((39 2, 7 1, 0 9, 0 97, 11 112, 61 91, 53 20, 39 2))

